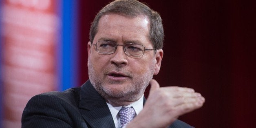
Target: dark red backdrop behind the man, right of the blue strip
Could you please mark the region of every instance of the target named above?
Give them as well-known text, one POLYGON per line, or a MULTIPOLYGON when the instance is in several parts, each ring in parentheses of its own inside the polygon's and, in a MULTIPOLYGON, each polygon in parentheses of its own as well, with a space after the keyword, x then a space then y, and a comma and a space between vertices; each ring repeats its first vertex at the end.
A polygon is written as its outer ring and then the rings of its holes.
MULTIPOLYGON (((256 2, 140 0, 158 11, 165 29, 161 86, 194 88, 203 108, 179 119, 196 128, 252 128, 255 118, 256 2)), ((88 79, 90 23, 109 0, 80 1, 80 84, 88 79)))

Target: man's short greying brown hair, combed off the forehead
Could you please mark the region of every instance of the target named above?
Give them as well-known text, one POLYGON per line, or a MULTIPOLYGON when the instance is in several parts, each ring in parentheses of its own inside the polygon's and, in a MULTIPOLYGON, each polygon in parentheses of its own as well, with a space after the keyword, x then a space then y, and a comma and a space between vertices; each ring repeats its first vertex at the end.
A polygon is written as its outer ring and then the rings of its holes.
POLYGON ((150 9, 147 5, 137 0, 115 0, 106 5, 95 16, 92 25, 90 26, 90 42, 93 43, 93 39, 98 31, 99 19, 103 15, 107 14, 119 14, 129 18, 134 18, 139 15, 146 15, 150 22, 149 39, 154 45, 154 49, 163 48, 163 24, 159 13, 150 9))

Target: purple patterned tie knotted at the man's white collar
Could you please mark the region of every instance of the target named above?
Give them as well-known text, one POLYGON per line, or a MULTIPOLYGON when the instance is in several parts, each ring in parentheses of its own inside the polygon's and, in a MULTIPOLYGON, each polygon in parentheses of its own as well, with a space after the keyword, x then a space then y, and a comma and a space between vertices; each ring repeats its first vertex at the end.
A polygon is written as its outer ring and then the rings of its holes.
POLYGON ((132 107, 122 107, 121 110, 119 110, 118 114, 120 117, 121 126, 124 126, 133 119, 133 117, 135 116, 135 111, 132 107))

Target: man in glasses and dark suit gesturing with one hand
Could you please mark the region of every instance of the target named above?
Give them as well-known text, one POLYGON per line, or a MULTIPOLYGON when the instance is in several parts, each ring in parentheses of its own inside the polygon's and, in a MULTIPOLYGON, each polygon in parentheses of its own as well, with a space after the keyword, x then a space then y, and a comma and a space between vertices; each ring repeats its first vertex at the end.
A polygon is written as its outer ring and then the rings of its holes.
POLYGON ((81 87, 31 98, 22 127, 191 127, 177 118, 203 106, 205 99, 191 88, 160 88, 152 79, 160 70, 163 36, 161 17, 145 4, 111 2, 90 28, 89 80, 81 87))

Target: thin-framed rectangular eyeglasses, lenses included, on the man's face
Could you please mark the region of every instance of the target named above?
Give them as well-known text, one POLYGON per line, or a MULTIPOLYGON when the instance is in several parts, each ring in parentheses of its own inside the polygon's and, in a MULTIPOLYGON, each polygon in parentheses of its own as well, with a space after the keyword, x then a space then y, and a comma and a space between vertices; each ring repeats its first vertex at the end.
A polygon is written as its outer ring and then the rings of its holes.
POLYGON ((124 48, 124 53, 126 55, 131 55, 131 56, 142 56, 144 55, 145 50, 150 51, 150 50, 156 50, 156 49, 145 49, 145 46, 141 44, 134 44, 134 43, 126 43, 124 45, 122 44, 117 44, 116 42, 113 41, 97 41, 96 44, 92 44, 96 46, 96 51, 99 53, 104 53, 106 55, 113 54, 117 50, 117 46, 123 46, 124 48))

